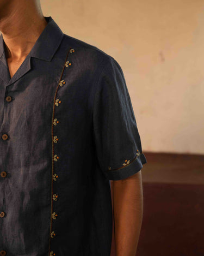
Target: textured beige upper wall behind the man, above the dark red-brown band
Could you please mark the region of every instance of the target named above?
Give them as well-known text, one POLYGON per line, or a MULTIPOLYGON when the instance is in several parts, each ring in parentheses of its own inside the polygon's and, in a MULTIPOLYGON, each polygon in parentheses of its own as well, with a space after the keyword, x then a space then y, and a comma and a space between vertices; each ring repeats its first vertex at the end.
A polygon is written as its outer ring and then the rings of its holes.
POLYGON ((65 34, 119 62, 144 151, 204 153, 203 0, 41 0, 65 34))

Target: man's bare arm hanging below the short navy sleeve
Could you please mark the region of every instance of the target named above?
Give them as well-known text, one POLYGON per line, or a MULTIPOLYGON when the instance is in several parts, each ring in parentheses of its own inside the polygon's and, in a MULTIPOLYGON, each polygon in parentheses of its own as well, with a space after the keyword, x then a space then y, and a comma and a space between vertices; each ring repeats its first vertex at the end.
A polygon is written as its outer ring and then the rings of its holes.
POLYGON ((126 179, 111 181, 115 256, 135 256, 143 220, 141 170, 126 179))

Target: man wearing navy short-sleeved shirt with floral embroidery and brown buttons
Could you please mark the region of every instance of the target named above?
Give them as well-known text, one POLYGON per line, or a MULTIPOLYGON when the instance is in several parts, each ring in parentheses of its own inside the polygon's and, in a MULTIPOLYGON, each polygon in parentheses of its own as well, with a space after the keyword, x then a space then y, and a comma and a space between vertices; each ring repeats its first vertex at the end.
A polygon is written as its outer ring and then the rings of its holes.
POLYGON ((109 256, 112 209, 135 255, 147 162, 118 62, 39 0, 2 0, 0 31, 0 256, 109 256))

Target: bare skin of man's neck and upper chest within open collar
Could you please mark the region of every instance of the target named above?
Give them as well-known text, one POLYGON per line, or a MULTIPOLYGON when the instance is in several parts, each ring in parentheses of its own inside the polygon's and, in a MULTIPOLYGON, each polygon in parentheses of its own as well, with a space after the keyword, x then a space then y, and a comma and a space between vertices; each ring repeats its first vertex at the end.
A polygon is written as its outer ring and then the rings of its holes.
POLYGON ((0 31, 12 78, 47 25, 40 0, 1 0, 0 31))

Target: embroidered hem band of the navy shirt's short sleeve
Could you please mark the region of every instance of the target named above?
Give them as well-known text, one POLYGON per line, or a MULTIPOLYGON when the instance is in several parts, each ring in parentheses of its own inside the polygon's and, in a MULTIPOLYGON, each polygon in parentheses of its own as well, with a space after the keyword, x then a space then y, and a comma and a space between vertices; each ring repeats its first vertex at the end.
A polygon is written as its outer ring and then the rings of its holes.
POLYGON ((129 163, 126 166, 122 166, 120 169, 116 170, 107 170, 106 175, 109 180, 122 180, 123 178, 127 178, 136 172, 140 171, 143 168, 143 164, 146 164, 147 160, 143 153, 140 153, 138 157, 136 157, 133 162, 129 163))

